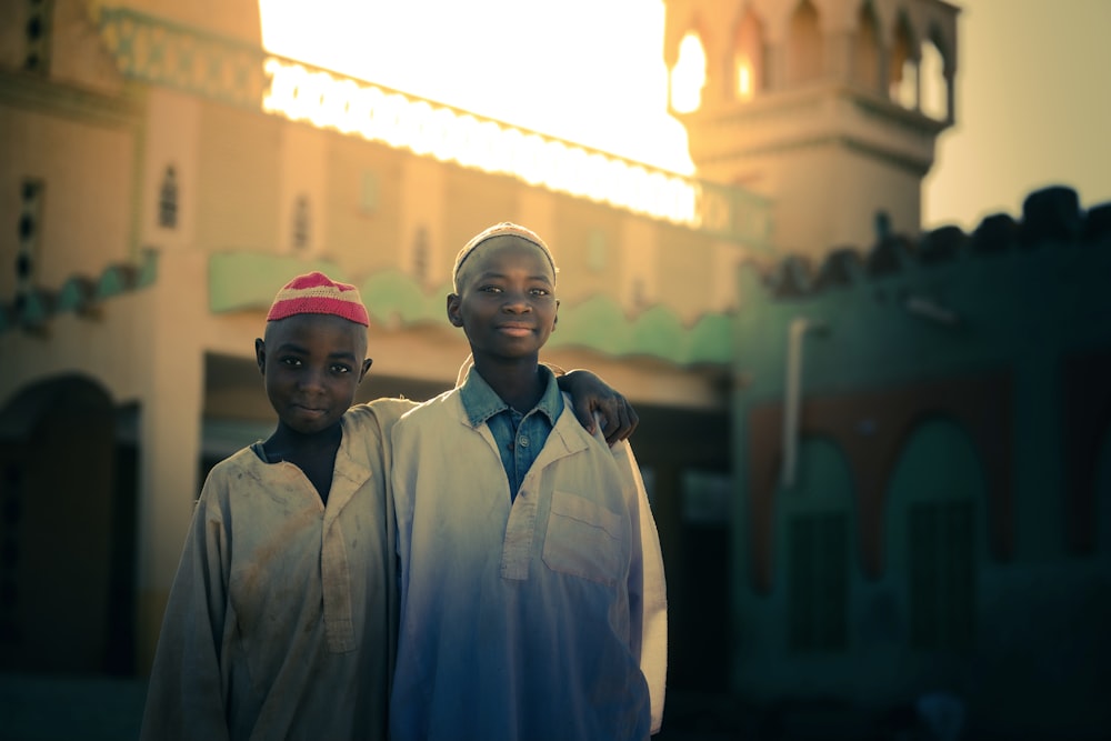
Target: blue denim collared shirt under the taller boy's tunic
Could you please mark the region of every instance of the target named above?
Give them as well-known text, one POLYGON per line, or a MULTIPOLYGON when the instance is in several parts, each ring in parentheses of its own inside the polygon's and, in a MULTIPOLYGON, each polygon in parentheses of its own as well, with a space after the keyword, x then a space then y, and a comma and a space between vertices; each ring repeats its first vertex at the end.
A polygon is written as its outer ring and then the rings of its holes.
POLYGON ((498 443, 501 464, 509 480, 509 497, 516 499, 524 474, 548 442, 556 420, 563 412, 563 394, 556 377, 544 366, 539 367, 544 379, 544 394, 527 413, 521 413, 501 400, 490 384, 473 368, 459 390, 471 427, 486 422, 498 443))

